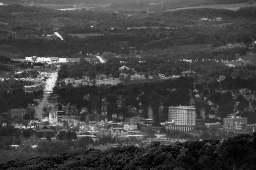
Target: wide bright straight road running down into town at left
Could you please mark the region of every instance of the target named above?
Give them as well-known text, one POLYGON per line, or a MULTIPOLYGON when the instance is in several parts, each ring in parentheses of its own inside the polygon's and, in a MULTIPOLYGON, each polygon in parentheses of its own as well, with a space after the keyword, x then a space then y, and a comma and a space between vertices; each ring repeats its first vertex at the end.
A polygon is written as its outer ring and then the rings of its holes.
POLYGON ((52 88, 55 86, 55 82, 58 78, 58 72, 49 73, 48 79, 46 80, 46 85, 44 87, 44 91, 47 91, 48 94, 44 94, 43 99, 35 108, 35 117, 38 120, 42 120, 43 108, 47 107, 47 98, 49 97, 49 93, 52 92, 52 88))

